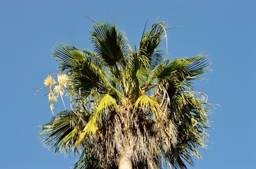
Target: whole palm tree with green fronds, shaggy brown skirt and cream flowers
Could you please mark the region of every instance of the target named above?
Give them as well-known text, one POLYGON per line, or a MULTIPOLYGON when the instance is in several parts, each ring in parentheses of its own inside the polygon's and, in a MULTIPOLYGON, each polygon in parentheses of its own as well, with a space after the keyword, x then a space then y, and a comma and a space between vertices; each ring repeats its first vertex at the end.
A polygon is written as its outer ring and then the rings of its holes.
POLYGON ((65 91, 71 109, 42 125, 44 145, 55 153, 79 153, 74 168, 193 165, 198 147, 205 146, 210 104, 191 80, 200 79, 209 62, 204 54, 164 59, 160 47, 171 28, 155 22, 132 50, 115 25, 95 23, 93 51, 57 46, 53 57, 63 74, 58 83, 49 76, 45 86, 51 110, 56 94, 65 91))

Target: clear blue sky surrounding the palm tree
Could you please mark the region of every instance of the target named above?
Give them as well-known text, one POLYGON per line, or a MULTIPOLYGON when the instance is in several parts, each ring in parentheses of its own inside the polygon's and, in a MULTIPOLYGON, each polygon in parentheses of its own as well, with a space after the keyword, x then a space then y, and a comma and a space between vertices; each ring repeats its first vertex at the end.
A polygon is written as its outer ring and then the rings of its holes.
MULTIPOLYGON (((92 22, 108 19, 138 44, 145 21, 169 26, 167 57, 207 53, 213 72, 196 82, 209 102, 213 130, 203 159, 190 168, 256 168, 255 1, 1 1, 0 168, 69 168, 75 159, 53 155, 39 142, 36 126, 52 117, 44 78, 57 72, 51 59, 57 42, 91 48, 92 22)), ((62 107, 60 107, 62 108, 62 107)))

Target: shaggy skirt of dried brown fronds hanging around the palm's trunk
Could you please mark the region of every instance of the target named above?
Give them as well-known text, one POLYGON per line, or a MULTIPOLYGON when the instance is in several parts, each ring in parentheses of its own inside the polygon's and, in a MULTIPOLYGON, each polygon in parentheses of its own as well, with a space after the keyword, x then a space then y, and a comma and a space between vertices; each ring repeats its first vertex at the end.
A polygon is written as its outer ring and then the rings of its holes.
POLYGON ((101 168, 161 168, 162 153, 176 145, 176 127, 171 121, 157 119, 153 123, 142 115, 114 115, 101 125, 102 137, 95 134, 92 155, 101 168))

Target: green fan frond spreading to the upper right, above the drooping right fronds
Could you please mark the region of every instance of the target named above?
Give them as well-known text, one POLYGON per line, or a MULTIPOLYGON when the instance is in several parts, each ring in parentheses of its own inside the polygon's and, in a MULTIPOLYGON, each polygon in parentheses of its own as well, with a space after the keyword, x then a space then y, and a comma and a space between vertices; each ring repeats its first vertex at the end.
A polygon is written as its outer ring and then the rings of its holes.
POLYGON ((206 55, 198 55, 192 58, 175 59, 160 64, 153 71, 149 80, 157 77, 160 84, 166 87, 170 98, 184 90, 191 90, 193 79, 200 79, 197 75, 208 72, 209 61, 206 55))

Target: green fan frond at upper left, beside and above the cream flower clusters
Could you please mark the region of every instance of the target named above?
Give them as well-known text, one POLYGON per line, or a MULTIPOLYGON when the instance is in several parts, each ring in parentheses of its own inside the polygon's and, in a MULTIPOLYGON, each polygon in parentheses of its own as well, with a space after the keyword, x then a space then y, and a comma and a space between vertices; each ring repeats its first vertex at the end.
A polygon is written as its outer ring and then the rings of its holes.
POLYGON ((84 53, 72 46, 60 45, 55 48, 53 57, 60 62, 59 69, 66 70, 70 76, 72 89, 87 96, 93 88, 104 90, 104 69, 96 54, 84 50, 84 53))

